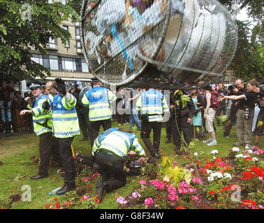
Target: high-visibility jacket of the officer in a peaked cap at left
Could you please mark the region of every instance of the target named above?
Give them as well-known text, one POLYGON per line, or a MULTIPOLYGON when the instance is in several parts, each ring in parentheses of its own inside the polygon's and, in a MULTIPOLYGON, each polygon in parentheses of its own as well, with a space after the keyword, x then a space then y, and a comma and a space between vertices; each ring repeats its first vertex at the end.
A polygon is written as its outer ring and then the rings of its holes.
POLYGON ((47 98, 47 95, 41 93, 41 95, 38 95, 36 98, 33 107, 27 105, 33 112, 34 132, 37 136, 45 132, 52 132, 52 113, 47 114, 47 111, 42 107, 43 102, 46 100, 51 102, 50 98, 47 98))

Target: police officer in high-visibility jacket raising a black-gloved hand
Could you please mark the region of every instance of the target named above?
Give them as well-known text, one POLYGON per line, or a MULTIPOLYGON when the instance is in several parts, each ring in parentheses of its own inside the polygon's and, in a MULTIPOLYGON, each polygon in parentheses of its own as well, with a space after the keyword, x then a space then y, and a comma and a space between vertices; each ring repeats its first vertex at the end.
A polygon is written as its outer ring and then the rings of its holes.
MULTIPOLYGON (((59 152, 65 171, 64 186, 57 192, 58 195, 61 195, 75 189, 75 166, 71 144, 73 137, 80 134, 78 116, 75 110, 76 98, 71 93, 66 92, 64 81, 61 78, 56 78, 55 82, 48 81, 46 89, 53 95, 53 134, 59 141, 59 152)), ((48 109, 47 103, 43 106, 48 109)))

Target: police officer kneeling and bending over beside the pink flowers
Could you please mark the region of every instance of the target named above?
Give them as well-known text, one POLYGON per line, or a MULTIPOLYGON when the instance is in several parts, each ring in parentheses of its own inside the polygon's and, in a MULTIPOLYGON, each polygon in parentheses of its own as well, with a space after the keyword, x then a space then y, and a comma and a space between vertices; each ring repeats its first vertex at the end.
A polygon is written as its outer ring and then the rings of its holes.
POLYGON ((100 201, 104 191, 111 192, 126 185, 124 157, 135 154, 145 156, 145 151, 131 132, 110 128, 96 138, 91 155, 94 155, 103 176, 103 180, 96 181, 96 194, 100 201))

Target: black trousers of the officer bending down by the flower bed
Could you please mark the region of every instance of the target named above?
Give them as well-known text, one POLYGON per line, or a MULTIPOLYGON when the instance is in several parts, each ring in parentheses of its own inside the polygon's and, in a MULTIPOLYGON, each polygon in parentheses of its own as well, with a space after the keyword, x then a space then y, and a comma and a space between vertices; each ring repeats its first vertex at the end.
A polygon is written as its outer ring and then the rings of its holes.
POLYGON ((99 165, 98 171, 103 176, 106 192, 126 185, 122 157, 108 151, 100 151, 95 155, 95 162, 99 165))

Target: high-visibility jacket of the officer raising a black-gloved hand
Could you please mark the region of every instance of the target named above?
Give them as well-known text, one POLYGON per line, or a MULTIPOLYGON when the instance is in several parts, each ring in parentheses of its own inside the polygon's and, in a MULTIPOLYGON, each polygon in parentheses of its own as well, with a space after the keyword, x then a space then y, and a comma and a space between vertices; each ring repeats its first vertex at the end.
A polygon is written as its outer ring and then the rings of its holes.
POLYGON ((71 95, 71 100, 68 101, 59 94, 54 95, 52 101, 52 125, 54 137, 68 138, 80 134, 75 105, 76 98, 73 95, 71 95))

